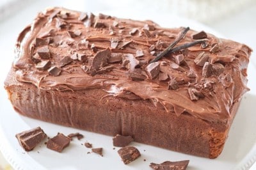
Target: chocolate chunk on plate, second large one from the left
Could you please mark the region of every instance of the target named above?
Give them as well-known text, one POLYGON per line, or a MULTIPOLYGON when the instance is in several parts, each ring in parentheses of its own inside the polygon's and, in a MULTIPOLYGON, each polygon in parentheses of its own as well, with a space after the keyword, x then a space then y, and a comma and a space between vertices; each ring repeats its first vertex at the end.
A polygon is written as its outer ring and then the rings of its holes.
POLYGON ((47 148, 50 150, 61 152, 63 151, 70 143, 70 138, 58 133, 58 135, 52 137, 47 142, 47 148))

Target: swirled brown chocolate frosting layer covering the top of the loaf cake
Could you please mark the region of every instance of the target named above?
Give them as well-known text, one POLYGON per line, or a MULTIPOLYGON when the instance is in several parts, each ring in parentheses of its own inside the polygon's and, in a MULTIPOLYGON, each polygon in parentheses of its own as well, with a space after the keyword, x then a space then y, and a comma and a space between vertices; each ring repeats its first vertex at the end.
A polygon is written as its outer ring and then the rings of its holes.
MULTIPOLYGON (((252 50, 246 45, 207 34, 207 38, 204 36, 206 48, 198 44, 166 55, 157 61, 160 65, 157 73, 168 77, 152 77, 146 67, 156 58, 153 54, 159 54, 172 43, 182 28, 166 29, 148 20, 99 16, 64 8, 49 8, 38 13, 31 26, 26 27, 17 39, 13 62, 16 79, 35 84, 42 90, 98 88, 108 92, 109 96, 151 100, 156 107, 161 104, 166 112, 175 112, 177 116, 188 112, 202 120, 221 122, 227 122, 232 104, 239 102, 248 91, 246 68, 252 50), (36 40, 40 42, 36 43, 36 40), (36 62, 33 61, 37 50, 45 44, 51 53, 47 60, 61 70, 57 76, 51 75, 49 70, 36 68, 38 55, 36 62), (207 76, 203 74, 206 66, 198 66, 194 61, 203 51, 209 57, 207 68, 216 69, 208 69, 207 76), (83 55, 83 60, 74 58, 74 54, 83 55), (180 54, 184 59, 177 65, 175 56, 180 54), (122 56, 122 61, 108 62, 112 55, 122 56), (72 61, 63 65, 61 59, 67 56, 72 61), (101 60, 95 56, 102 56, 101 60), (131 77, 134 74, 136 79, 131 77), (170 82, 175 82, 177 89, 170 88, 170 82), (195 89, 192 90, 194 98, 189 96, 188 89, 191 88, 195 89), (202 95, 196 97, 198 91, 202 95)), ((195 34, 196 31, 189 30, 177 45, 195 41, 195 34)), ((44 58, 41 60, 45 61, 44 58)))

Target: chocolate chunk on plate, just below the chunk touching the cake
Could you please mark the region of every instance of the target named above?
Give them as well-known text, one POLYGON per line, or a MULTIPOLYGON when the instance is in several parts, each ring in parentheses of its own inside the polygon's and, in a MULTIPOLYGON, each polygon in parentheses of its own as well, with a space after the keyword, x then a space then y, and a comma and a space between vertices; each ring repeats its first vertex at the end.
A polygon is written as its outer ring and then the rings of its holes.
POLYGON ((140 157, 140 151, 134 146, 125 146, 117 151, 124 164, 129 164, 140 157))

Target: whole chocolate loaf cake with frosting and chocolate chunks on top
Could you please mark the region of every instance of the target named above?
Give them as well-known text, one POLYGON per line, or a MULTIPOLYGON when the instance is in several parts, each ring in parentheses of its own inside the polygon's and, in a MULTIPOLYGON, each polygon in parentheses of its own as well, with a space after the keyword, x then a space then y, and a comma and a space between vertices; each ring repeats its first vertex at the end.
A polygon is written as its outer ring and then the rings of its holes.
POLYGON ((251 52, 189 27, 48 8, 17 38, 4 87, 24 116, 216 158, 251 52))

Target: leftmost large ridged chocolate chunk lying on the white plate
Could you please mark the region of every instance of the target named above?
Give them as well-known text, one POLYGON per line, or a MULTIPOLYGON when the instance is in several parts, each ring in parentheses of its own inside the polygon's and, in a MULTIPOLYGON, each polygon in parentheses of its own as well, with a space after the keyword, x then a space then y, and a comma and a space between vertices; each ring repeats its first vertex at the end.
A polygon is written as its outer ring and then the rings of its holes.
POLYGON ((40 127, 32 128, 31 130, 26 130, 16 134, 15 137, 18 139, 20 146, 26 151, 31 151, 36 147, 41 141, 47 137, 44 130, 40 127))

